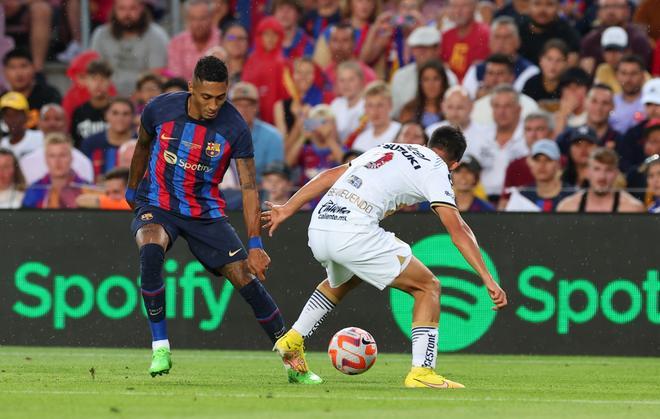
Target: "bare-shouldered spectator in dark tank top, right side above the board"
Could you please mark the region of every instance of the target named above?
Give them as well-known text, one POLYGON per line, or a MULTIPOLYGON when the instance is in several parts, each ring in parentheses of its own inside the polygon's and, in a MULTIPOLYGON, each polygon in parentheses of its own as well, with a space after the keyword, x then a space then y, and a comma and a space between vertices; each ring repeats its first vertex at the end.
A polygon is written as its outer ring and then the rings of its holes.
POLYGON ((644 204, 626 191, 614 187, 619 175, 619 157, 609 148, 597 148, 589 156, 589 187, 557 206, 559 212, 646 212, 644 204))

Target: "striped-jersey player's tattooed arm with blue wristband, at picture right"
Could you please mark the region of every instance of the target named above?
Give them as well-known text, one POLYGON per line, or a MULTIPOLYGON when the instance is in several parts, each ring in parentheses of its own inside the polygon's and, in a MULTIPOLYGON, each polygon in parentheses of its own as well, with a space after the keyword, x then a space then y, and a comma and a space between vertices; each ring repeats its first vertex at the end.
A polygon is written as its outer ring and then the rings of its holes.
POLYGON ((266 269, 270 265, 270 257, 261 243, 259 230, 259 191, 257 190, 257 175, 254 158, 236 159, 238 178, 243 194, 243 218, 248 233, 248 268, 261 281, 266 279, 266 269))

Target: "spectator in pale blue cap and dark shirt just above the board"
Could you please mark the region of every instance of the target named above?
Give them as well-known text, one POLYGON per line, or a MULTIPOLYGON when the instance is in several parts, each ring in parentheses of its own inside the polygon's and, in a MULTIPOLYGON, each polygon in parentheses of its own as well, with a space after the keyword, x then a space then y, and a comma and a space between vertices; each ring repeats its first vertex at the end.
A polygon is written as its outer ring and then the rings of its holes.
MULTIPOLYGON (((557 143, 547 139, 535 142, 527 159, 533 181, 521 188, 520 194, 541 212, 555 212, 559 202, 570 195, 559 176, 561 153, 557 143)), ((506 204, 503 205, 506 208, 506 204)))

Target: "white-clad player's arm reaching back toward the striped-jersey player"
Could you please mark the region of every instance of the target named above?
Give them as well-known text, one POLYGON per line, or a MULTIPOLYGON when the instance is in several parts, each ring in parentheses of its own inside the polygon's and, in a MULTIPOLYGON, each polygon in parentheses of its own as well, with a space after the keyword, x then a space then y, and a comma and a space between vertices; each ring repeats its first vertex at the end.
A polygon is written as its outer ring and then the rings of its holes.
POLYGON ((274 205, 272 202, 266 201, 265 204, 270 210, 261 213, 261 221, 264 222, 263 228, 268 229, 268 235, 272 237, 277 227, 287 218, 295 214, 303 205, 330 189, 346 169, 348 169, 348 164, 322 171, 298 189, 298 192, 284 205, 274 205))

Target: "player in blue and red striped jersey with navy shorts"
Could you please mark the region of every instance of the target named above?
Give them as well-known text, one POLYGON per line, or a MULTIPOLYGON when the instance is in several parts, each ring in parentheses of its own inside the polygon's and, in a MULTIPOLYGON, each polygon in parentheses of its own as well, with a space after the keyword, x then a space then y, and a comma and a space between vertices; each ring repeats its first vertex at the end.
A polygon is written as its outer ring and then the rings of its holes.
POLYGON ((226 101, 227 78, 221 60, 203 57, 189 92, 160 95, 142 113, 126 200, 135 210, 131 228, 152 334, 152 376, 166 374, 172 366, 162 268, 165 252, 178 236, 209 272, 229 279, 272 342, 285 332, 282 315, 261 284, 270 258, 259 235, 252 138, 226 101), (247 251, 227 220, 218 189, 230 159, 236 160, 243 193, 247 251))

